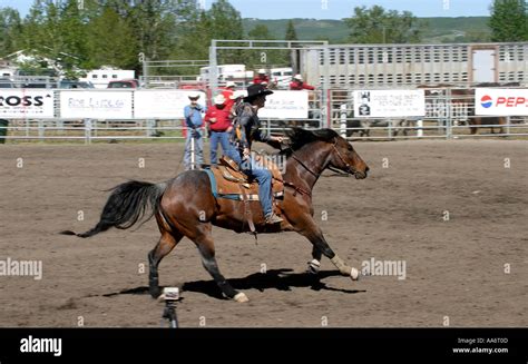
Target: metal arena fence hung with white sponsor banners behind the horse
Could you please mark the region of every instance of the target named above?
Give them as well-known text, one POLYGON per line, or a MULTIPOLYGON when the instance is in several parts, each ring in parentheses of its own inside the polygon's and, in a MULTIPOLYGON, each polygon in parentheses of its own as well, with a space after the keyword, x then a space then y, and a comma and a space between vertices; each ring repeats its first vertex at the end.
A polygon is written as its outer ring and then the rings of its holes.
MULTIPOLYGON (((0 90, 0 119, 10 121, 8 140, 182 139, 183 108, 196 92, 0 90)), ((260 112, 264 128, 284 134, 292 126, 330 127, 349 139, 369 140, 528 136, 526 88, 334 89, 325 98, 322 92, 275 92, 260 112), (363 101, 371 115, 359 115, 363 101), (491 117, 479 116, 486 112, 491 117)), ((206 94, 201 95, 201 104, 206 104, 206 94)))

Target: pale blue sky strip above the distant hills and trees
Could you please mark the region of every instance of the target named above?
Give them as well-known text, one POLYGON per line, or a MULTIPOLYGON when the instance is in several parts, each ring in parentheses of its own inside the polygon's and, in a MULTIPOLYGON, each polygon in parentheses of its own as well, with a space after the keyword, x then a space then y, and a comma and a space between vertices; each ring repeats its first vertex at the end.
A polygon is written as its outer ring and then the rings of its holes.
MULTIPOLYGON (((211 7, 213 0, 198 0, 211 7)), ((417 17, 485 17, 492 0, 229 0, 242 18, 258 19, 342 19, 355 7, 379 4, 390 10, 409 10, 417 17)), ((23 16, 33 0, 0 0, 0 7, 11 7, 23 16)))

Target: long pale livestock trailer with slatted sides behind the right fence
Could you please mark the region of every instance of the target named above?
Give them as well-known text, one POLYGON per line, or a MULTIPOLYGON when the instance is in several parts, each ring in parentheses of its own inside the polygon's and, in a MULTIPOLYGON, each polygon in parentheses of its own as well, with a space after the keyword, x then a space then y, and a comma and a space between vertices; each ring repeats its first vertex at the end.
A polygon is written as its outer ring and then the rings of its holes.
POLYGON ((528 85, 528 42, 458 45, 329 45, 306 47, 300 69, 331 88, 528 85))

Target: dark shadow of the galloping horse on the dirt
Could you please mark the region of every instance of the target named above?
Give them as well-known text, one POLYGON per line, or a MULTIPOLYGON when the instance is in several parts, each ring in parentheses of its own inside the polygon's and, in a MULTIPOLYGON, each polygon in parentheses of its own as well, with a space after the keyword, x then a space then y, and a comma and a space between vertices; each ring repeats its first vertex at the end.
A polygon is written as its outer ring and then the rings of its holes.
MULTIPOLYGON (((293 269, 272 269, 265 273, 254 273, 243 278, 228 279, 235 289, 278 289, 292 291, 292 287, 310 287, 313 291, 333 291, 348 294, 363 293, 364 289, 344 289, 330 287, 323 278, 341 276, 339 270, 321 270, 316 276, 309 273, 291 273, 293 269)), ((226 299, 214 281, 194 281, 180 285, 183 292, 203 293, 218 299, 226 299)), ((162 287, 163 289, 163 287, 162 287)), ((105 297, 111 297, 120 294, 147 295, 148 287, 141 286, 130 289, 124 289, 116 293, 104 294, 105 297)))

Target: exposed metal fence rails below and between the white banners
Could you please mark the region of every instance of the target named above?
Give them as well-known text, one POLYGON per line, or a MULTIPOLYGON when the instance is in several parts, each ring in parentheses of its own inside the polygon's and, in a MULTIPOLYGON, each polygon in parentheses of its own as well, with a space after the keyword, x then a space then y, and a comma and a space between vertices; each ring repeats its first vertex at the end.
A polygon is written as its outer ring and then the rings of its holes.
MULTIPOLYGON (((297 120, 263 119, 270 134, 284 134, 291 127, 332 128, 354 140, 398 140, 420 138, 477 138, 528 136, 528 117, 508 117, 505 122, 472 126, 475 97, 454 89, 428 89, 423 118, 354 117, 354 89, 319 90, 310 94, 309 117, 297 120), (325 95, 323 95, 325 94, 325 95), (493 132, 493 134, 492 134, 493 132)), ((58 91, 56 91, 58 92, 58 91)), ((58 99, 55 108, 59 110, 58 99)), ((12 119, 7 127, 9 141, 71 140, 90 144, 108 140, 178 140, 186 137, 180 118, 166 119, 12 119)))

